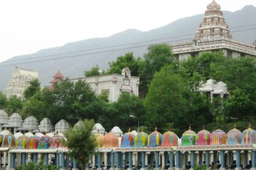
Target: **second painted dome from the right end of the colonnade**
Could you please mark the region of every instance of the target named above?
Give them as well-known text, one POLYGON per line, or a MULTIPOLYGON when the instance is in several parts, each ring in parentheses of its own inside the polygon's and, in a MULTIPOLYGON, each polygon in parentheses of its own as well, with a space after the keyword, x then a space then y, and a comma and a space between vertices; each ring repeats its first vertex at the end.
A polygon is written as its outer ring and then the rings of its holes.
POLYGON ((227 132, 227 144, 241 144, 242 141, 242 133, 234 124, 234 128, 227 132))

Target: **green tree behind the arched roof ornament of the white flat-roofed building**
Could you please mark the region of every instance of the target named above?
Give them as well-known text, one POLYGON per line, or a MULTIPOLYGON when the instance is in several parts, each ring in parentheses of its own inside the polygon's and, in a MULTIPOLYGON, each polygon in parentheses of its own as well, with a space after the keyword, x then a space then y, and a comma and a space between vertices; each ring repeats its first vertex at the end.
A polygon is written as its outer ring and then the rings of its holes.
POLYGON ((126 53, 124 56, 118 56, 116 61, 109 62, 109 69, 107 69, 107 73, 121 74, 122 70, 125 67, 128 67, 132 76, 138 76, 140 62, 140 58, 135 58, 133 56, 133 53, 129 52, 126 53))

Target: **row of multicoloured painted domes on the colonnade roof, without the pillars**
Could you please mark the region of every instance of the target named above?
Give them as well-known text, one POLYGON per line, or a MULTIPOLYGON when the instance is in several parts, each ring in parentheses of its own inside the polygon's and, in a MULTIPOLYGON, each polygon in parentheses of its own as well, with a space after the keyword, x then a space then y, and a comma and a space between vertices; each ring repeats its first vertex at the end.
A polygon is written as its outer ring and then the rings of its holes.
MULTIPOLYGON (((99 132, 99 129, 94 129, 94 131, 99 132)), ((179 144, 179 137, 174 132, 169 131, 162 135, 157 131, 157 127, 150 135, 143 132, 143 130, 135 135, 135 133, 130 132, 130 129, 129 132, 121 135, 121 138, 112 132, 106 135, 100 133, 94 135, 96 136, 98 148, 217 146, 256 143, 256 131, 251 128, 251 124, 243 133, 234 126, 227 134, 220 129, 213 131, 212 134, 205 129, 196 134, 191 131, 190 127, 188 131, 183 133, 181 144, 179 144)), ((34 135, 31 132, 27 132, 23 135, 18 132, 13 135, 9 131, 2 131, 0 132, 0 146, 2 148, 16 149, 55 149, 63 146, 63 137, 63 134, 54 135, 53 133, 45 135, 37 133, 34 135)))

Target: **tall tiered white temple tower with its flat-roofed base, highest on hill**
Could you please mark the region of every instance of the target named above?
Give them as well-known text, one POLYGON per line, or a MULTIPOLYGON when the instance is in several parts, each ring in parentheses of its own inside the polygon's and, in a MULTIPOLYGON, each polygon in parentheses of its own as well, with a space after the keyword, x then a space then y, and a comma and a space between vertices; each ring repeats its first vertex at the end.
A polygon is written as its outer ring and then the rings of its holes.
POLYGON ((205 16, 194 39, 189 42, 171 44, 172 53, 179 60, 187 60, 203 51, 221 50, 225 56, 256 56, 256 43, 249 45, 232 39, 229 26, 223 17, 221 6, 212 1, 207 5, 205 16))

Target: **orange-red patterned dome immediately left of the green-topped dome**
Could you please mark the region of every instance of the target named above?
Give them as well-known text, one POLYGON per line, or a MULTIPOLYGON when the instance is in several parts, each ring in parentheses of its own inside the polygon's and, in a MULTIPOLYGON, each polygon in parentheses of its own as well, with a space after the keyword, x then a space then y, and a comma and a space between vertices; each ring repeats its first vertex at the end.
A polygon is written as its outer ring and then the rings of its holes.
POLYGON ((179 146, 179 137, 171 131, 163 134, 162 147, 179 146))

